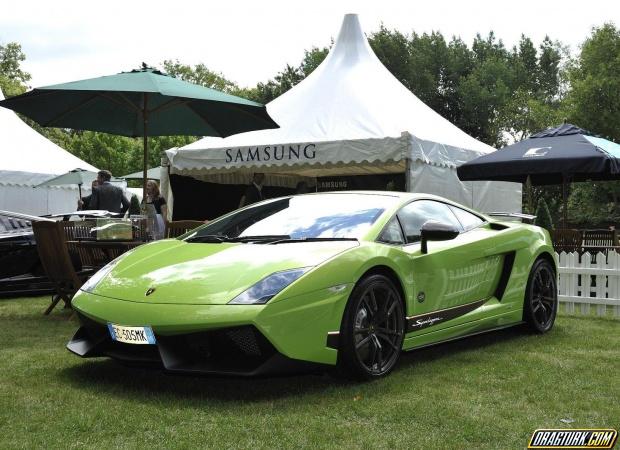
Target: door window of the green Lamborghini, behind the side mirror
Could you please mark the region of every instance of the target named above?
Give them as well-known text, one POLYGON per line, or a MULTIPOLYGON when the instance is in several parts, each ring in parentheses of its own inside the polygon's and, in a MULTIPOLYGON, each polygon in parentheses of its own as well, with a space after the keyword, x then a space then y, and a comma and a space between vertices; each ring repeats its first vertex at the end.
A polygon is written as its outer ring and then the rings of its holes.
POLYGON ((445 203, 433 200, 418 200, 405 205, 399 211, 398 218, 403 226, 408 243, 420 240, 420 229, 429 220, 453 225, 459 231, 463 230, 450 207, 445 203))

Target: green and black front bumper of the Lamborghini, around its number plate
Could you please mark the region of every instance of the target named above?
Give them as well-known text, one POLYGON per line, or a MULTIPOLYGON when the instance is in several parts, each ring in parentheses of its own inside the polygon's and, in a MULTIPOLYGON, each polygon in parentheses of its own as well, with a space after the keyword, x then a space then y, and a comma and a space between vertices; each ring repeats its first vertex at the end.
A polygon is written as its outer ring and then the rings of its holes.
POLYGON ((150 304, 80 292, 81 327, 67 348, 170 372, 253 376, 334 365, 328 333, 340 329, 349 290, 329 290, 266 305, 150 304), (156 345, 113 341, 107 323, 148 325, 156 345))

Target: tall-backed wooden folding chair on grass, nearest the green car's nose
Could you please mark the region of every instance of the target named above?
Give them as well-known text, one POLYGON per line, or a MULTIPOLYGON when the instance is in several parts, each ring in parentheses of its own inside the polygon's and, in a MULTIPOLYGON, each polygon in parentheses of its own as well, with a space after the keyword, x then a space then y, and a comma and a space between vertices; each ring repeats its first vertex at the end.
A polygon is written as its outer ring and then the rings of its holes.
POLYGON ((65 302, 65 308, 70 308, 71 298, 84 284, 87 274, 76 272, 60 222, 33 222, 32 230, 41 264, 56 292, 44 314, 49 314, 61 300, 65 302))

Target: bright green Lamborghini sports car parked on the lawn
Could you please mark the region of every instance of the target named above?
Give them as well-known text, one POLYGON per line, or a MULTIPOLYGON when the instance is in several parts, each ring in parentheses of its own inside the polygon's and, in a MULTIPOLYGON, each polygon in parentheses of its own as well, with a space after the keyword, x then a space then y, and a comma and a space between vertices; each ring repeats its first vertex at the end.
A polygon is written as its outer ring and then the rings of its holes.
POLYGON ((403 351, 549 331, 553 255, 541 228, 431 195, 277 198, 112 261, 73 298, 67 347, 168 372, 375 378, 403 351))

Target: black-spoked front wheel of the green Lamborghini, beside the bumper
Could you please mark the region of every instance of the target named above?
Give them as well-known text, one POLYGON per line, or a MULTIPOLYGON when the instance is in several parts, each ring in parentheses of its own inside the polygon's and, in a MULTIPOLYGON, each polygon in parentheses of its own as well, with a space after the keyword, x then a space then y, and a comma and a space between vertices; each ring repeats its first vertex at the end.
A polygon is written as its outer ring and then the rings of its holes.
POLYGON ((345 308, 340 330, 338 368, 354 379, 388 374, 401 353, 405 331, 398 289, 383 275, 362 279, 345 308))

